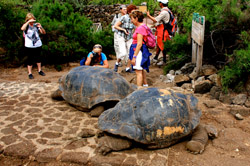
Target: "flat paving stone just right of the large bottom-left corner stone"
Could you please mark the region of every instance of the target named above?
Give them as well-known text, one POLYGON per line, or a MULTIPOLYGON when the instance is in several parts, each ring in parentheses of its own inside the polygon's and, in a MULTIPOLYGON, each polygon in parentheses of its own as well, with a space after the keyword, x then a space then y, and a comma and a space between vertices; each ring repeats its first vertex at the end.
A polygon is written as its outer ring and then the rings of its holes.
POLYGON ((62 152, 61 148, 44 149, 36 154, 36 160, 38 162, 54 161, 62 152))

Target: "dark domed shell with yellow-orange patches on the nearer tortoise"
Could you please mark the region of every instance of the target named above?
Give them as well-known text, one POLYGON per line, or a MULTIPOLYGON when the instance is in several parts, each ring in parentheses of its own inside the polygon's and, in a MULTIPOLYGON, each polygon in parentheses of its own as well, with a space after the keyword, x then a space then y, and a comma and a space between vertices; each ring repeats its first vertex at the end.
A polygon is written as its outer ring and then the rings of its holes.
POLYGON ((98 119, 101 130, 134 141, 167 147, 190 134, 201 111, 192 94, 147 88, 134 91, 98 119))

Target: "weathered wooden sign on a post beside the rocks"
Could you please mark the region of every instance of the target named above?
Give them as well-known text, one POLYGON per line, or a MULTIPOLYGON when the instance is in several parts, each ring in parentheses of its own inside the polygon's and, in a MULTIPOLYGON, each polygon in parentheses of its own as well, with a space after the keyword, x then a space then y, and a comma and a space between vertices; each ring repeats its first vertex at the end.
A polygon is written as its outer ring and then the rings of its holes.
POLYGON ((205 16, 194 13, 192 20, 192 63, 196 63, 198 73, 202 66, 204 33, 205 16))

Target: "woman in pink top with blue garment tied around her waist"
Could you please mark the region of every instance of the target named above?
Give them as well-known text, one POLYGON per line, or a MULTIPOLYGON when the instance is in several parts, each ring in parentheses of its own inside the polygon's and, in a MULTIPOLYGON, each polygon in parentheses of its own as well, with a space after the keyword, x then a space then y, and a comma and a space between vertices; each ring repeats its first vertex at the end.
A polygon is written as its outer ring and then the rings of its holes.
POLYGON ((144 15, 141 11, 133 11, 130 14, 132 23, 136 26, 133 34, 133 42, 130 47, 129 58, 133 69, 136 72, 137 86, 148 86, 146 79, 146 70, 149 72, 151 53, 145 44, 147 42, 146 25, 143 24, 144 15))

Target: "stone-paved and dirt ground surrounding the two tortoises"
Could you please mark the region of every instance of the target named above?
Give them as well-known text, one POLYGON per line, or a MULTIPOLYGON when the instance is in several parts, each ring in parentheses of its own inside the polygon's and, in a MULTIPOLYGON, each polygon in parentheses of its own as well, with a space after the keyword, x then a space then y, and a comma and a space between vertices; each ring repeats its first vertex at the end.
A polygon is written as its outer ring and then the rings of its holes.
MULTIPOLYGON (((113 68, 114 60, 109 63, 113 68)), ((250 165, 249 116, 236 120, 229 113, 233 106, 212 100, 209 94, 195 94, 203 113, 201 122, 216 126, 219 137, 209 141, 203 154, 188 153, 187 140, 183 140, 165 149, 133 148, 96 155, 96 140, 81 134, 95 132, 97 118, 50 99, 58 79, 76 66, 70 63, 61 72, 45 66, 45 77, 34 68, 33 80, 24 67, 0 69, 0 165, 250 165)), ((135 74, 119 72, 135 82, 135 74)), ((147 74, 151 87, 171 86, 160 81, 161 74, 161 68, 151 67, 147 74)))

